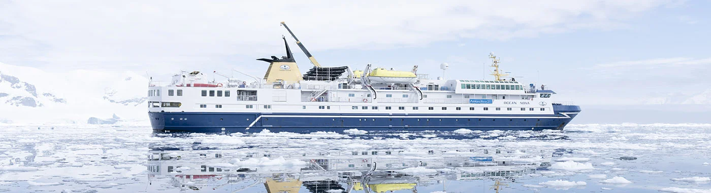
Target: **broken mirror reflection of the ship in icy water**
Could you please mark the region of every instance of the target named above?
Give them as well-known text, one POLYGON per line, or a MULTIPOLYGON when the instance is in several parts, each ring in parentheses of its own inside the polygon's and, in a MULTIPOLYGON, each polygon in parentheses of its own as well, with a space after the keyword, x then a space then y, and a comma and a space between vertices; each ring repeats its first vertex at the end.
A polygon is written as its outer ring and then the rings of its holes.
POLYGON ((156 189, 188 192, 446 191, 453 181, 504 184, 547 170, 552 152, 530 151, 156 149, 149 151, 148 177, 151 186, 164 186, 156 189))

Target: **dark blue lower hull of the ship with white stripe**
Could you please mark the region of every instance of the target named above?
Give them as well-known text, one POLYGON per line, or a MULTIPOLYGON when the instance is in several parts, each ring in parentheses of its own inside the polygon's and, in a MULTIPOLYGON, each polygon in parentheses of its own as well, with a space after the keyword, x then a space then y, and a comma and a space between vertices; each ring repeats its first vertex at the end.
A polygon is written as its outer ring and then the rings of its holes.
POLYGON ((554 105, 552 115, 513 114, 259 114, 223 112, 149 112, 154 131, 199 133, 471 130, 562 130, 579 106, 554 105))

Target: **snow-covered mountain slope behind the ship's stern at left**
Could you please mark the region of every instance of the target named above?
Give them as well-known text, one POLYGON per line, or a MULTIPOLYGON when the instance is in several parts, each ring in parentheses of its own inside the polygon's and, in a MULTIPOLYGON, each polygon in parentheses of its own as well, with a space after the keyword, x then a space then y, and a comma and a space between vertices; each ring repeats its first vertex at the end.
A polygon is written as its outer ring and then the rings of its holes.
POLYGON ((148 79, 134 72, 46 72, 0 63, 0 123, 147 120, 148 79))

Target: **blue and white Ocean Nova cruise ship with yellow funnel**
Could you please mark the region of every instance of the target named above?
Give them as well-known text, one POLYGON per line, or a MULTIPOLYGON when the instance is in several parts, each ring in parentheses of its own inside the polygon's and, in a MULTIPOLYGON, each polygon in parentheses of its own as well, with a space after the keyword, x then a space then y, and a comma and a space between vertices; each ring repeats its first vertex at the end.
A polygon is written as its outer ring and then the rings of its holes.
MULTIPOLYGON (((171 82, 149 82, 148 111, 154 131, 250 133, 263 129, 307 133, 363 131, 562 130, 579 112, 541 84, 507 78, 490 54, 493 79, 430 79, 390 67, 323 67, 282 22, 309 58, 301 74, 282 37, 286 56, 268 62, 264 77, 208 79, 179 72, 171 82)), ((447 70, 449 65, 440 65, 447 70)), ((235 72, 238 72, 235 70, 235 72)))

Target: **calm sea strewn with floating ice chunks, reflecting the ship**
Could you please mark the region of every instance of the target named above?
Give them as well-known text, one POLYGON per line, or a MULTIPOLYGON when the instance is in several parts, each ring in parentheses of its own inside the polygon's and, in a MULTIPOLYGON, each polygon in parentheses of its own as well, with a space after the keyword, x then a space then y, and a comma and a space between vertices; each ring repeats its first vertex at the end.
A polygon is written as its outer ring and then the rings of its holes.
POLYGON ((5 126, 0 133, 0 192, 494 192, 497 181, 508 184, 500 192, 711 192, 707 124, 231 135, 5 126))

